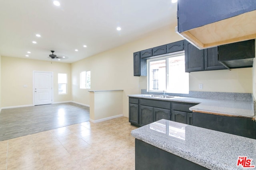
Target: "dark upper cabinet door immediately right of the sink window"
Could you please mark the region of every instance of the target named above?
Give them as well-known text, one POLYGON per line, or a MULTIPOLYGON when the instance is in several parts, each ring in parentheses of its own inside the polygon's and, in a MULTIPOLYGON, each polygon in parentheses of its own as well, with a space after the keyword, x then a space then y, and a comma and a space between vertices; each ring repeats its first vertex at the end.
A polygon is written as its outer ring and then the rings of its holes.
POLYGON ((204 70, 204 50, 199 50, 190 43, 184 44, 185 72, 204 70))

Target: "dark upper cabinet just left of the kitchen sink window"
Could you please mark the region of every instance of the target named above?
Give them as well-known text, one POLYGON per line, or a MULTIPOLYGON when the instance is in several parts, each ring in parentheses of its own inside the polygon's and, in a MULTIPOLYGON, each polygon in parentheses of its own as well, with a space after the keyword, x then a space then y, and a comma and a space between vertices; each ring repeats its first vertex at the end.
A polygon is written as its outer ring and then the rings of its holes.
POLYGON ((140 58, 140 52, 133 53, 133 75, 147 75, 147 61, 140 58))

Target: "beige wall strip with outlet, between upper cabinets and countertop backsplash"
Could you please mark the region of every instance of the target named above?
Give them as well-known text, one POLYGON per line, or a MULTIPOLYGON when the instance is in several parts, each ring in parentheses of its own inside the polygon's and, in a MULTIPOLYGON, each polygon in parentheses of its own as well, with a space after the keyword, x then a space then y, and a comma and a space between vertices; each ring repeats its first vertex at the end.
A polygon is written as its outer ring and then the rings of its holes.
POLYGON ((252 68, 190 72, 189 90, 252 93, 252 68), (199 84, 203 84, 202 90, 199 84))

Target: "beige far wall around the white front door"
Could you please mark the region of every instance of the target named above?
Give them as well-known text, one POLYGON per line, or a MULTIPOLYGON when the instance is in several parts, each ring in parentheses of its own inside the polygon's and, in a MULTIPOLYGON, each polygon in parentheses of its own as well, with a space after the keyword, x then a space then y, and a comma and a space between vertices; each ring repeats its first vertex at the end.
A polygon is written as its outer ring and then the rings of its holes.
POLYGON ((1 57, 2 107, 33 104, 33 71, 53 72, 53 103, 70 101, 71 64, 1 57), (68 74, 68 94, 58 95, 58 73, 68 74), (27 85, 27 87, 23 87, 27 85))

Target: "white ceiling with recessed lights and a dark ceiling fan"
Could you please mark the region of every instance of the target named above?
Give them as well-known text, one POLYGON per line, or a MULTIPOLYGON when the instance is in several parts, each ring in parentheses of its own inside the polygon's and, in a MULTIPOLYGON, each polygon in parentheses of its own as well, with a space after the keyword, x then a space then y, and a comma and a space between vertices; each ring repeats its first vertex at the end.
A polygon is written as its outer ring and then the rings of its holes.
POLYGON ((50 61, 54 50, 67 57, 58 62, 73 63, 177 22, 177 3, 171 0, 59 2, 0 0, 0 55, 50 61))

